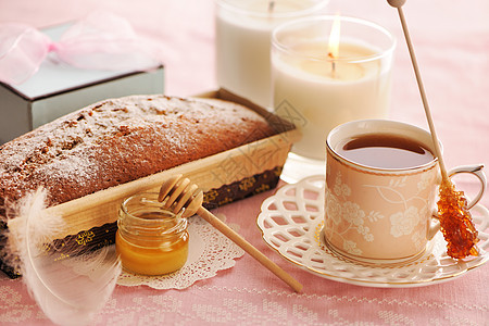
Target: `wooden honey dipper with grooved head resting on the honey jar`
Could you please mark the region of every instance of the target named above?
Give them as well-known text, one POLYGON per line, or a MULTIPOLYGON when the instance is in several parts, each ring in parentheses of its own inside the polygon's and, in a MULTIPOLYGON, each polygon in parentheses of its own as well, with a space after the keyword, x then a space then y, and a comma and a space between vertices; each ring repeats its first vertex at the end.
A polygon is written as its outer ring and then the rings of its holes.
POLYGON ((302 290, 302 285, 299 281, 287 274, 287 272, 281 269, 261 251, 254 248, 243 237, 218 220, 214 214, 203 208, 202 190, 200 190, 197 185, 191 184, 188 178, 184 178, 181 175, 175 175, 168 178, 161 186, 158 200, 163 202, 163 206, 165 209, 170 209, 174 213, 178 213, 185 208, 183 217, 190 217, 197 213, 233 242, 238 244, 242 250, 248 252, 252 258, 258 260, 263 266, 268 268, 272 273, 288 284, 296 292, 300 292, 302 290))

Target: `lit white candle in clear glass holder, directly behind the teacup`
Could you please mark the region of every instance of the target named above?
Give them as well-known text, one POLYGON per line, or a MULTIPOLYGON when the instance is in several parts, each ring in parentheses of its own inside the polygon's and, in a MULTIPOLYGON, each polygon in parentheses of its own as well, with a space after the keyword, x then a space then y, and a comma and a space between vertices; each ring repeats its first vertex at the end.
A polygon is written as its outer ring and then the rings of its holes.
POLYGON ((352 17, 305 17, 274 29, 274 111, 302 131, 283 178, 324 174, 326 136, 337 125, 387 117, 394 48, 387 29, 352 17))

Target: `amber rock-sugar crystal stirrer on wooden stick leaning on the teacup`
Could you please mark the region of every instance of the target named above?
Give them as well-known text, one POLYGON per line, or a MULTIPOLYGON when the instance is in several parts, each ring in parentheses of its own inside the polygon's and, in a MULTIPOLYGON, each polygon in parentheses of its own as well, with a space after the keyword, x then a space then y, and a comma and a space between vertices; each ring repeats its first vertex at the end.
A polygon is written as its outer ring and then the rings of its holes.
MULTIPOLYGON (((435 154, 438 158, 438 165, 440 166, 441 185, 439 189, 438 216, 440 220, 441 231, 448 242, 447 253, 454 259, 464 259, 468 255, 477 256, 479 254, 476 248, 476 243, 479 241, 477 237, 477 229, 472 221, 472 215, 468 211, 469 206, 467 206, 467 200, 464 197, 464 192, 455 190, 455 187, 450 180, 444 166, 440 143, 432 123, 431 112, 429 110, 423 80, 421 78, 416 55, 414 54, 414 48, 411 42, 408 24, 402 11, 402 5, 405 3, 405 0, 387 0, 387 2, 391 7, 398 9, 411 62, 416 75, 416 82, 422 97, 423 106, 425 109, 426 120, 428 121, 429 130, 431 133, 435 154)), ((484 185, 484 187, 486 186, 484 185)))

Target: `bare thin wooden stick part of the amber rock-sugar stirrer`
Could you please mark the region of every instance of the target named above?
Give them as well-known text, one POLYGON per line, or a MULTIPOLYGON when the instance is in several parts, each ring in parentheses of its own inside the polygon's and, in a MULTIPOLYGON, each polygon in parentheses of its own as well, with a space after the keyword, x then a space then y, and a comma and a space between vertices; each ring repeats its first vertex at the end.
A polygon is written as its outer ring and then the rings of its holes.
POLYGON ((425 88, 423 86, 423 80, 419 73, 419 67, 417 66, 416 55, 414 54, 414 48, 411 42, 410 33, 408 30, 408 24, 405 23, 404 13, 402 11, 402 5, 405 0, 388 0, 389 4, 397 8, 399 12, 399 18, 401 20, 402 30, 404 33, 404 38, 408 43, 408 49, 410 51, 411 62, 413 64, 414 73, 416 75, 417 87, 419 88, 419 93, 423 101, 423 106, 425 108, 426 118, 428 121, 429 130, 431 131, 432 143, 435 146, 435 154, 438 158, 438 163, 440 165, 441 177, 443 180, 448 179, 447 167, 444 166, 443 156, 441 154, 440 143, 438 141, 437 133, 435 130, 435 124, 432 123, 431 111, 429 110, 428 100, 426 98, 425 88))

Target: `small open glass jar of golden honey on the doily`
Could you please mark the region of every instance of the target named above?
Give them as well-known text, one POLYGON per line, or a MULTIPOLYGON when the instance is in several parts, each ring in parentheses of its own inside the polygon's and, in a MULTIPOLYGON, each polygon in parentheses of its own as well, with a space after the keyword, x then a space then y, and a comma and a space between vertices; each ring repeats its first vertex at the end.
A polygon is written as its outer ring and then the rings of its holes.
POLYGON ((118 211, 115 248, 123 267, 141 275, 181 268, 188 256, 187 218, 162 208, 158 192, 127 198, 118 211))

